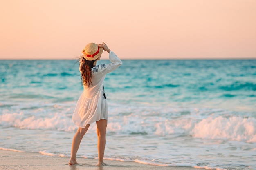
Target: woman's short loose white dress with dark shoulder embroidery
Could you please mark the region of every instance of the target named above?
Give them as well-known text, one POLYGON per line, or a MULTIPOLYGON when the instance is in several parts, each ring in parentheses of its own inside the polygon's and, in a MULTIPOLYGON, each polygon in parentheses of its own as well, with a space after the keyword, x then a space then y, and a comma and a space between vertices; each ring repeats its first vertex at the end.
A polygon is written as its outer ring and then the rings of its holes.
POLYGON ((108 104, 103 96, 103 81, 107 73, 117 69, 122 64, 112 51, 109 53, 109 59, 110 64, 100 64, 92 68, 92 85, 89 88, 83 86, 83 93, 76 103, 72 116, 72 121, 80 128, 100 119, 108 119, 108 104))

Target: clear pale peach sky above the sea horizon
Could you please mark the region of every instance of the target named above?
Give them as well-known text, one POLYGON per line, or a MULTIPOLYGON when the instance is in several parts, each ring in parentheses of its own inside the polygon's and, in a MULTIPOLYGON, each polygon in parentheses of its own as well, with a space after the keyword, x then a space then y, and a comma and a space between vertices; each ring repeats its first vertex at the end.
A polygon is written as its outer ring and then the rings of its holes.
POLYGON ((0 59, 256 58, 256 0, 0 0, 0 59), (108 53, 102 54, 108 58, 108 53))

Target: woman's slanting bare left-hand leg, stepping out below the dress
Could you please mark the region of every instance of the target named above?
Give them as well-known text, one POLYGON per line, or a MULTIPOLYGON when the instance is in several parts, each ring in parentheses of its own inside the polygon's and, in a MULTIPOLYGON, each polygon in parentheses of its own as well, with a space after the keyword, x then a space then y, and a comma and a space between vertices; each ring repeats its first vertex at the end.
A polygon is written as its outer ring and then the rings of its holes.
POLYGON ((72 141, 72 147, 71 147, 71 157, 70 157, 70 162, 68 163, 69 165, 76 165, 78 164, 76 162, 76 153, 79 148, 79 145, 81 143, 81 140, 83 139, 83 136, 87 132, 90 124, 86 125, 85 128, 78 128, 76 131, 76 134, 74 135, 73 141, 72 141))

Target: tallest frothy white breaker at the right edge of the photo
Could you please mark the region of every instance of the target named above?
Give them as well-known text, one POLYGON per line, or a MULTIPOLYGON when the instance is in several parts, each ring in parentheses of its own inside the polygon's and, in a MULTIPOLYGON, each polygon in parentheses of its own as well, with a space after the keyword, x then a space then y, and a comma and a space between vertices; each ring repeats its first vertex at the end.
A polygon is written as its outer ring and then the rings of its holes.
POLYGON ((256 142, 256 119, 240 116, 208 117, 194 125, 193 137, 256 142))

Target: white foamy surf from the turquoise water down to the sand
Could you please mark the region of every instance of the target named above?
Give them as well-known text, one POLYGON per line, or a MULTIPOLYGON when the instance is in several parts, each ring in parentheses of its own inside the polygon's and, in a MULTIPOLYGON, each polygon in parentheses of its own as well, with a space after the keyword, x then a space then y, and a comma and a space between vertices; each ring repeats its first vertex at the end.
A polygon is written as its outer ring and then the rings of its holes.
MULTIPOLYGON (((4 147, 13 148, 13 151, 70 157, 72 137, 77 129, 71 121, 74 104, 16 104, 3 110, 0 128, 4 127, 5 132, 10 129, 2 136, 4 147), (13 142, 10 142, 9 136, 16 128, 19 128, 19 136, 13 136, 13 142), (24 141, 26 146, 22 145, 24 141)), ((229 160, 234 155, 247 159, 252 157, 255 150, 255 121, 254 117, 242 117, 220 109, 109 102, 105 159, 155 166, 225 170, 218 163, 204 161, 197 164, 191 158, 211 159, 213 162, 221 160, 225 162, 225 167, 230 167, 229 160), (233 152, 241 147, 243 150, 233 152), (218 155, 218 150, 222 150, 221 155, 218 155)), ((95 123, 91 124, 78 157, 97 159, 96 128, 95 123)), ((252 163, 247 164, 254 167, 252 163)))

